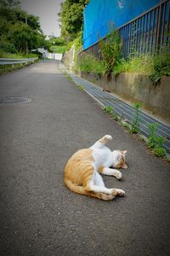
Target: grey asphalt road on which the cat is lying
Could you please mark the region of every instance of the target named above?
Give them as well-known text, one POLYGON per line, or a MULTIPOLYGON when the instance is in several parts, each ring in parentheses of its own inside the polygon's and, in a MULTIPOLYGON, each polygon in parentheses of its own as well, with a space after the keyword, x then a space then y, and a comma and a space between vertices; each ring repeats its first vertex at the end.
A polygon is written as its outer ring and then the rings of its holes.
POLYGON ((1 255, 163 256, 170 253, 170 168, 124 131, 59 71, 33 64, 0 77, 1 255), (127 149, 126 196, 100 201, 65 188, 64 166, 79 148, 111 134, 127 149))

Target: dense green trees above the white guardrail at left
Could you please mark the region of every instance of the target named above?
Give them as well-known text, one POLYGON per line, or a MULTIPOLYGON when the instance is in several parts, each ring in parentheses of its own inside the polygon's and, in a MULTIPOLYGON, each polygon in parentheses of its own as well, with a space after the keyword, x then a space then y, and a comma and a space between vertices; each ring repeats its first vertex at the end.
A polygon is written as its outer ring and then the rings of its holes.
POLYGON ((19 2, 0 2, 0 49, 4 52, 26 53, 45 45, 39 17, 20 9, 19 2))

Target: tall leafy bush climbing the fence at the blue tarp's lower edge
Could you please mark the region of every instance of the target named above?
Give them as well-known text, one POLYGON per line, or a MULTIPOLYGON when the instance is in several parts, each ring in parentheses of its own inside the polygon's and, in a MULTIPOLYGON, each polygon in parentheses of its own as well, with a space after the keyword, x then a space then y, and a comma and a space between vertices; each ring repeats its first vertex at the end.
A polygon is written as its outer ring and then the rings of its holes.
POLYGON ((116 63, 121 59, 122 40, 118 30, 114 30, 111 34, 99 41, 99 49, 101 50, 102 59, 105 62, 105 75, 107 81, 111 81, 111 72, 116 63))

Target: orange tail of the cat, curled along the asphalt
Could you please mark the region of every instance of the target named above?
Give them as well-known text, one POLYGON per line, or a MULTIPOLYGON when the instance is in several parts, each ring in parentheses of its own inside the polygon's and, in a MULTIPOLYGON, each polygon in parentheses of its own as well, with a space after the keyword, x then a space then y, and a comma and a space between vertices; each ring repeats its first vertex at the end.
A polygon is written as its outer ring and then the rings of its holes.
POLYGON ((86 189, 84 189, 83 186, 76 185, 72 183, 71 180, 66 178, 65 178, 65 185, 68 189, 70 189, 72 192, 75 192, 77 194, 89 195, 105 201, 111 201, 112 199, 115 198, 115 195, 106 195, 104 193, 95 193, 93 191, 87 191, 86 189))

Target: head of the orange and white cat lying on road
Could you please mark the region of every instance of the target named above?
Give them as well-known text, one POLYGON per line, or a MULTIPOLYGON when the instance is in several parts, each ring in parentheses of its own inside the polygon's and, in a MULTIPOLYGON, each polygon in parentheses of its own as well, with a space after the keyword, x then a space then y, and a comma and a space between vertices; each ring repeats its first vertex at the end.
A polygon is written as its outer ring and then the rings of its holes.
POLYGON ((125 163, 125 156, 127 150, 114 150, 113 151, 113 167, 127 169, 127 164, 125 163))

